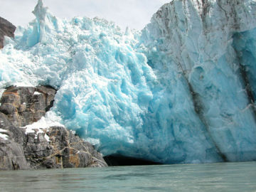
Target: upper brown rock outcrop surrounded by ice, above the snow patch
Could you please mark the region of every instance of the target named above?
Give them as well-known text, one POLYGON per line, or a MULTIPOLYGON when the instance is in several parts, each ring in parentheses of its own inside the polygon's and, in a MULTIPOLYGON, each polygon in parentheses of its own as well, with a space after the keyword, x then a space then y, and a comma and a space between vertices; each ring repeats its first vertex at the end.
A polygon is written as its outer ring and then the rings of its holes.
POLYGON ((8 87, 1 97, 0 111, 16 127, 37 122, 53 106, 53 87, 8 87))

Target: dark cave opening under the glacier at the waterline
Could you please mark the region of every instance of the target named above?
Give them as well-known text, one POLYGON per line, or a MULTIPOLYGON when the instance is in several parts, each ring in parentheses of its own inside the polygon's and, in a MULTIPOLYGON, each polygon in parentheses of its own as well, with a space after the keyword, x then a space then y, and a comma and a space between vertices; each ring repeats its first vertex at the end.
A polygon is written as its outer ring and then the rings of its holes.
POLYGON ((108 166, 142 166, 142 165, 161 165, 159 162, 138 159, 131 156, 112 154, 103 157, 108 166))

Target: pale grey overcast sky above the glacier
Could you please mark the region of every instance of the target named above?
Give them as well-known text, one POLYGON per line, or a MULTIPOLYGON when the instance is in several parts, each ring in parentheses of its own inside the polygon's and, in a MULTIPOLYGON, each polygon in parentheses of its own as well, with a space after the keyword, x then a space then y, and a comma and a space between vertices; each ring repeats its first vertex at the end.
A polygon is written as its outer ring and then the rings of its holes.
MULTIPOLYGON (((16 26, 25 26, 33 18, 38 0, 0 0, 0 16, 16 26)), ((114 21, 121 28, 142 29, 151 16, 171 0, 43 0, 50 12, 59 18, 98 16, 114 21)))

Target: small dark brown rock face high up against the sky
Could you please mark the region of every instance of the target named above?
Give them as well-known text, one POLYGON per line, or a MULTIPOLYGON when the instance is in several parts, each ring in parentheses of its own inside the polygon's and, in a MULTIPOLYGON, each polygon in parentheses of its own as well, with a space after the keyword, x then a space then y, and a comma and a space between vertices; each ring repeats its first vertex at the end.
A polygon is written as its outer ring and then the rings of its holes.
POLYGON ((4 47, 4 36, 14 38, 15 29, 16 26, 11 24, 6 19, 0 17, 0 48, 4 47))

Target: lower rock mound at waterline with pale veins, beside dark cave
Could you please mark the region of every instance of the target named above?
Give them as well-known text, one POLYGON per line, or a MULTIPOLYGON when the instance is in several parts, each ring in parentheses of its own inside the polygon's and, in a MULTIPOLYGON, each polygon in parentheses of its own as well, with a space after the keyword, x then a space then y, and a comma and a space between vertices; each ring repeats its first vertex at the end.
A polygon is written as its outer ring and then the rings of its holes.
POLYGON ((50 127, 37 137, 28 134, 27 138, 25 156, 35 169, 107 166, 90 143, 64 127, 50 127))

